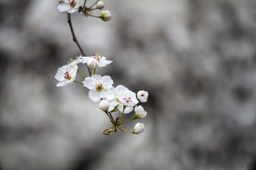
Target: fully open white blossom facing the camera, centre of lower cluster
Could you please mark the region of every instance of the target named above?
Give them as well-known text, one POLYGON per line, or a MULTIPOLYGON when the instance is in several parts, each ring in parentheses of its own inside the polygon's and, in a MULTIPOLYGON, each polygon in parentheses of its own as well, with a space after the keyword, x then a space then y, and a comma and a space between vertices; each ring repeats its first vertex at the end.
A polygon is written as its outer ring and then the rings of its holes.
POLYGON ((92 75, 86 77, 82 83, 90 89, 89 97, 93 102, 100 102, 101 98, 111 100, 114 97, 114 93, 110 91, 114 83, 110 76, 92 75))

